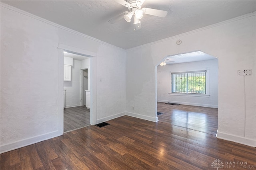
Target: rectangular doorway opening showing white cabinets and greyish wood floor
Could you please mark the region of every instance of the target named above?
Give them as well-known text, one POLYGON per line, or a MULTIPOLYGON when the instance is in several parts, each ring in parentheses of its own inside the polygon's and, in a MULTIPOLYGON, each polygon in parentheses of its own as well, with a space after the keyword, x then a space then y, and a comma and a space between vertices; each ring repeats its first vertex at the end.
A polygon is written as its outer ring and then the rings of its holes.
POLYGON ((90 88, 88 70, 89 57, 64 51, 64 132, 90 125, 90 107, 84 100, 90 88))

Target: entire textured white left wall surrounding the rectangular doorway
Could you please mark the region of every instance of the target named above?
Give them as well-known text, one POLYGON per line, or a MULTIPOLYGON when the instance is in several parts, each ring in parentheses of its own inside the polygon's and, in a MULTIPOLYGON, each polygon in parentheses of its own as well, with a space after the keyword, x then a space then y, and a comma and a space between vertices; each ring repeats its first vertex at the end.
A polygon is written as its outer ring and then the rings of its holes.
POLYGON ((63 104, 59 97, 63 96, 63 57, 61 64, 58 43, 96 54, 97 121, 124 115, 124 50, 2 3, 0 11, 1 152, 63 134, 58 126, 63 116, 63 110, 58 110, 58 103, 63 104))

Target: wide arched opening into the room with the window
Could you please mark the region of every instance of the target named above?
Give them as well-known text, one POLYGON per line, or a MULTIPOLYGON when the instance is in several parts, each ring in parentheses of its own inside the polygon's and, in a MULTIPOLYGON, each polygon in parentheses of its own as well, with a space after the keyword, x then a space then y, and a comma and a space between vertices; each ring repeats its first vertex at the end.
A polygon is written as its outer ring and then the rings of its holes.
POLYGON ((158 121, 216 135, 216 57, 202 51, 167 56, 156 66, 156 87, 158 121))

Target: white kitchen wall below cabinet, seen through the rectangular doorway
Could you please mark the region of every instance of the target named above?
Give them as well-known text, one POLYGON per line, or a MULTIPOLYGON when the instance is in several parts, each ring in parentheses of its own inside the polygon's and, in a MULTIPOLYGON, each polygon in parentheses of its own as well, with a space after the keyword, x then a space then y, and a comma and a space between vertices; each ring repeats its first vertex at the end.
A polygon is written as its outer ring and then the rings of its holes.
POLYGON ((66 89, 66 108, 80 106, 81 102, 81 61, 73 59, 71 81, 64 81, 66 89))

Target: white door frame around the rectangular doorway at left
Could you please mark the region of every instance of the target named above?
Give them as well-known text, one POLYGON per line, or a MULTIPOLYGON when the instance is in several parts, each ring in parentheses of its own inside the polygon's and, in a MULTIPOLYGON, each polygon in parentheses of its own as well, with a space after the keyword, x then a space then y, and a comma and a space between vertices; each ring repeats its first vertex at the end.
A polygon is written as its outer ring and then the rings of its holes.
POLYGON ((96 53, 84 49, 72 47, 69 45, 58 43, 58 134, 64 133, 64 106, 63 106, 63 76, 64 76, 64 51, 70 51, 79 55, 90 57, 90 124, 95 125, 97 121, 97 85, 96 85, 96 71, 97 71, 97 56, 96 53))

